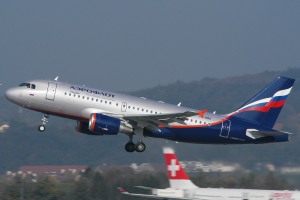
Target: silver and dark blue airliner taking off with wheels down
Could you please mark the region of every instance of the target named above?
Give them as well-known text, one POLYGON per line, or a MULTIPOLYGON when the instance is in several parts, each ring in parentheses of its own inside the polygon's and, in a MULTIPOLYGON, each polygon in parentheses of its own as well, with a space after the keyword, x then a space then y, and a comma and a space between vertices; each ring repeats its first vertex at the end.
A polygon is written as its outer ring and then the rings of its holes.
MULTIPOLYGON (((77 121, 88 135, 128 135, 127 152, 143 152, 133 136, 199 144, 258 144, 289 141, 290 133, 273 129, 295 79, 278 77, 229 114, 210 113, 55 80, 32 80, 10 88, 5 96, 43 113, 40 132, 50 115, 77 121)), ((222 98, 222 97, 220 97, 222 98)))

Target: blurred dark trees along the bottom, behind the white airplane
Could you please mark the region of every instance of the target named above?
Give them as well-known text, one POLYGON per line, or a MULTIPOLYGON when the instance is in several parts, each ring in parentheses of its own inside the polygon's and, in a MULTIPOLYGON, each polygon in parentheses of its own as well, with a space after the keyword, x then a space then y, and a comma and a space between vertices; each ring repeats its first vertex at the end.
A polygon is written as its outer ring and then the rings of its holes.
MULTIPOLYGON (((294 189, 285 177, 272 172, 255 173, 195 173, 192 181, 199 187, 248 188, 248 189, 294 189)), ((76 176, 58 178, 40 177, 37 181, 16 176, 11 180, 2 178, 0 199, 2 200, 135 200, 140 199, 122 195, 117 187, 134 193, 147 193, 134 186, 167 188, 165 172, 135 173, 130 168, 110 168, 101 172, 88 168, 76 176)))

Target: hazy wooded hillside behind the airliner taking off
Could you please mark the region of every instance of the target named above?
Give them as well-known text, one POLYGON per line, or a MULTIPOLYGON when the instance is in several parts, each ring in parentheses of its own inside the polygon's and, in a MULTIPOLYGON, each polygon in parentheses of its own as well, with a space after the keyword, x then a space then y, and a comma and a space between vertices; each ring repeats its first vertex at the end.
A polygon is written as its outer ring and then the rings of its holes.
MULTIPOLYGON (((277 76, 300 80, 300 69, 263 72, 225 79, 205 78, 189 83, 176 82, 166 86, 132 92, 136 96, 161 100, 196 109, 229 113, 237 109, 277 76)), ((0 171, 14 170, 21 165, 90 165, 111 166, 132 162, 162 163, 161 147, 171 145, 183 160, 222 160, 254 166, 258 162, 275 165, 300 165, 300 86, 296 81, 276 126, 295 133, 291 142, 261 145, 203 145, 174 143, 146 138, 144 153, 126 153, 128 138, 93 137, 75 131, 75 121, 50 117, 45 133, 37 126, 41 114, 21 109, 0 99, 0 125, 8 123, 7 132, 0 133, 0 171)), ((135 137, 135 140, 138 138, 135 137)))

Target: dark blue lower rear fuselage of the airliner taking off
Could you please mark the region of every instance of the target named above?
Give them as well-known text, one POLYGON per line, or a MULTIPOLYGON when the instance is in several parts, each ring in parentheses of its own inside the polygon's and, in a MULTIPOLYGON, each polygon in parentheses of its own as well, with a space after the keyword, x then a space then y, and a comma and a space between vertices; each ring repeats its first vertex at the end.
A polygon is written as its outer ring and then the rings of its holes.
MULTIPOLYGON (((164 138, 180 142, 202 143, 202 144, 253 144, 288 141, 287 135, 266 136, 258 139, 250 138, 246 135, 246 130, 252 129, 261 131, 274 131, 273 129, 261 127, 257 124, 249 123, 239 119, 231 119, 229 134, 221 136, 222 124, 195 128, 161 128, 160 131, 145 131, 145 136, 164 138), (226 136, 227 135, 227 136, 226 136)), ((226 132, 226 129, 223 129, 226 132)))

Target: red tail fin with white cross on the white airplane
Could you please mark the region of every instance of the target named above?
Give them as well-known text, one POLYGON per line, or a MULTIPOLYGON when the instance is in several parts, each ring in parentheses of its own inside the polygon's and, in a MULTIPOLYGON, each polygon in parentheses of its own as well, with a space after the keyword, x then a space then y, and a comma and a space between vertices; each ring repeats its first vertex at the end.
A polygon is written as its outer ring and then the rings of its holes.
POLYGON ((173 189, 195 189, 198 188, 190 180, 184 169, 182 168, 179 160, 177 159, 173 149, 163 148, 165 161, 167 165, 168 178, 170 187, 173 189))

